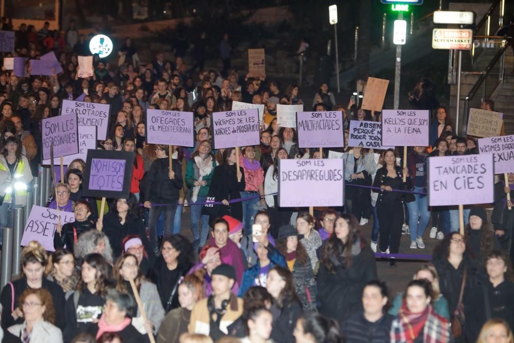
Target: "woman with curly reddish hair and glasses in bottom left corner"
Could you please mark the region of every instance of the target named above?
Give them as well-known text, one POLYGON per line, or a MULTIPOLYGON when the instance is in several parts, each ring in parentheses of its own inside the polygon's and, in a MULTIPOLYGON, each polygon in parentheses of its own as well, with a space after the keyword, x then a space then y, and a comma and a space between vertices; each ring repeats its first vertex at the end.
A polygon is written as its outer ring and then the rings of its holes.
POLYGON ((11 326, 8 329, 10 333, 29 343, 62 343, 62 332, 54 326, 56 310, 47 290, 27 288, 19 301, 25 320, 11 326))

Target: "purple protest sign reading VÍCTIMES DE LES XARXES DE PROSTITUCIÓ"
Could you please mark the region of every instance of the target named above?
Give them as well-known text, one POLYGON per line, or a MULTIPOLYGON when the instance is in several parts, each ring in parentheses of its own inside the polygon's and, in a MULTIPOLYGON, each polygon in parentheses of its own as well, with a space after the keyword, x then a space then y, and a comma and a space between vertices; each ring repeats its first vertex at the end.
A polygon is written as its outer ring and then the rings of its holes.
POLYGON ((259 112, 256 109, 214 112, 212 132, 215 149, 259 145, 259 112))

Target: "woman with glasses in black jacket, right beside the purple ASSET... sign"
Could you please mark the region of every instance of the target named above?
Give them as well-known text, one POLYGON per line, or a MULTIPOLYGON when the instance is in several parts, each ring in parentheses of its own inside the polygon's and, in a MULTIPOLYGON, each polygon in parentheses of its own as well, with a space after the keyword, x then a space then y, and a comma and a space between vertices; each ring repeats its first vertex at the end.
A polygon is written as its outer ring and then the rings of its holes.
POLYGON ((66 248, 73 253, 75 243, 80 235, 89 230, 96 229, 95 222, 89 219, 91 215, 91 205, 84 200, 79 200, 75 203, 74 207, 75 221, 73 223, 66 223, 62 226, 57 225, 57 230, 53 235, 53 247, 66 248))

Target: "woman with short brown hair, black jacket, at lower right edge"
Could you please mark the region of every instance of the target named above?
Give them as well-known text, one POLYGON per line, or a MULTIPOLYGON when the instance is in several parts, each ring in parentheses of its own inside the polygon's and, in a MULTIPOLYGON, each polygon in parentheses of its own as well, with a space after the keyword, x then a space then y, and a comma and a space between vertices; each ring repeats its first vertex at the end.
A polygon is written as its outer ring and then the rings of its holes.
POLYGON ((501 318, 514 328, 514 275, 510 259, 505 252, 493 250, 485 257, 485 265, 489 282, 475 287, 464 304, 465 333, 470 342, 476 341, 480 328, 492 318, 501 318))

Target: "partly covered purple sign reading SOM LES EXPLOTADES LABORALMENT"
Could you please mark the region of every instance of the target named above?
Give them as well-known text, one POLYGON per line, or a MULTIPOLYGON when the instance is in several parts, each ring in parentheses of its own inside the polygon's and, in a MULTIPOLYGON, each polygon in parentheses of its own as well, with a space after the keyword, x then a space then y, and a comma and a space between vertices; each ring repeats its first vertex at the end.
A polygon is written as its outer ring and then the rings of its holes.
POLYGON ((94 125, 97 129, 97 139, 105 140, 109 129, 109 110, 107 104, 63 100, 61 114, 77 114, 79 125, 94 125))

